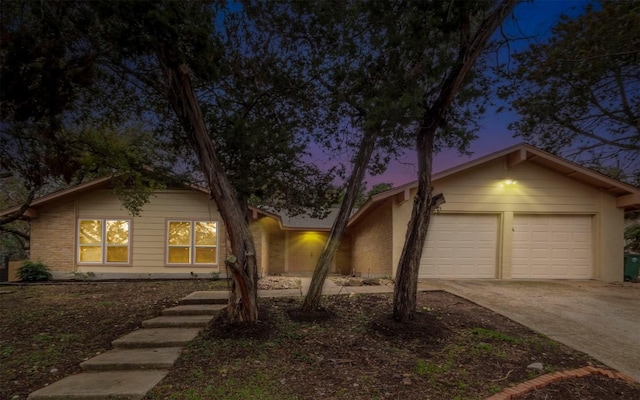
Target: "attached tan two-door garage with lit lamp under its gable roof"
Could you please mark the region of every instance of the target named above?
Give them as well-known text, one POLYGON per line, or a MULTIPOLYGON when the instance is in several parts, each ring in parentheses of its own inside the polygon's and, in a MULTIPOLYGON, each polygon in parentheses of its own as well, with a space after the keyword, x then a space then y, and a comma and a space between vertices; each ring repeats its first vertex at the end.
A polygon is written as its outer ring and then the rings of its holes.
MULTIPOLYGON (((419 278, 623 278, 624 213, 640 209, 636 187, 525 144, 434 174, 432 185, 445 202, 432 214, 419 278)), ((391 237, 391 276, 417 187, 373 196, 349 222, 378 226, 391 214, 383 227, 391 237)), ((364 229, 353 232, 356 241, 367 237, 364 229)))

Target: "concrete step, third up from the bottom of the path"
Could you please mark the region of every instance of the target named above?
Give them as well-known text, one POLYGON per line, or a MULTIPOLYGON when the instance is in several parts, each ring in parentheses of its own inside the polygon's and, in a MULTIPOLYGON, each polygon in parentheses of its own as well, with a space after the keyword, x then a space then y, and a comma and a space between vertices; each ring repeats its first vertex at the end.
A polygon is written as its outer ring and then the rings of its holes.
POLYGON ((144 328, 124 335, 111 344, 116 349, 180 347, 198 336, 200 328, 144 328))

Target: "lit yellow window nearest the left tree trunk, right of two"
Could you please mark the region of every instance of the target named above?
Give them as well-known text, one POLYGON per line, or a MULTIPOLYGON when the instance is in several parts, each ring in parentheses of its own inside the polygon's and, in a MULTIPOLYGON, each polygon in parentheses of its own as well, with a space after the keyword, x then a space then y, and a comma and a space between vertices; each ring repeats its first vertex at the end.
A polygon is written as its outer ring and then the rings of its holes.
POLYGON ((169 221, 168 264, 217 264, 218 224, 211 221, 169 221))

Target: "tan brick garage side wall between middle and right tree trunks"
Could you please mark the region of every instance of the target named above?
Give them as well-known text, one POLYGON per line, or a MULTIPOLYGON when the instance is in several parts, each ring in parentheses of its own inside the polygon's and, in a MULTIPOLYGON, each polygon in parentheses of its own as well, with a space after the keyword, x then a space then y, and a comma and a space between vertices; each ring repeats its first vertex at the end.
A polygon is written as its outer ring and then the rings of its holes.
POLYGON ((352 228, 352 267, 362 276, 392 273, 392 218, 390 201, 383 202, 352 228))

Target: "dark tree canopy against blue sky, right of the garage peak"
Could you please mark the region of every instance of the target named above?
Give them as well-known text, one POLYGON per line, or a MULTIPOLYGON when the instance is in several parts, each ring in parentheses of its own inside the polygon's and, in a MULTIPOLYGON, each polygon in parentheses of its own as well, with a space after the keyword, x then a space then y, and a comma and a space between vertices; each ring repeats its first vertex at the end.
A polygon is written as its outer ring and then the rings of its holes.
POLYGON ((565 157, 640 170, 640 3, 590 3, 513 58, 501 96, 520 114, 509 126, 517 136, 565 157))

